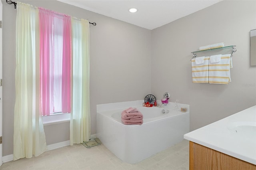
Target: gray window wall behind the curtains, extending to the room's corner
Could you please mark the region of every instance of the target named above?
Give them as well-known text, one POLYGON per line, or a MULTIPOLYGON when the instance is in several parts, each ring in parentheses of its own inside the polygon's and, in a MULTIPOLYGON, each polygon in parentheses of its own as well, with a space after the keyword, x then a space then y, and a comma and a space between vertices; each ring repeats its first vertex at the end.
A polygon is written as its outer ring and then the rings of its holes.
MULTIPOLYGON (((96 105, 141 100, 150 93, 151 31, 55 0, 22 1, 77 18, 90 26, 90 111, 96 133, 96 105)), ((15 104, 14 5, 3 4, 3 156, 13 153, 15 104)), ((46 142, 69 140, 69 123, 45 126, 46 142)))

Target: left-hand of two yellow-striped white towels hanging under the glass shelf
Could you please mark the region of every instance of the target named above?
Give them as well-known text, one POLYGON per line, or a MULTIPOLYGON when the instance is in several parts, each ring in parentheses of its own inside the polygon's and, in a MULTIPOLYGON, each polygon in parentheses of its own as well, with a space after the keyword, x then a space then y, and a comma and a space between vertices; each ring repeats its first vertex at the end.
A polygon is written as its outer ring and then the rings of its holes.
POLYGON ((191 60, 192 83, 208 83, 209 57, 204 57, 204 62, 198 65, 195 60, 191 60))

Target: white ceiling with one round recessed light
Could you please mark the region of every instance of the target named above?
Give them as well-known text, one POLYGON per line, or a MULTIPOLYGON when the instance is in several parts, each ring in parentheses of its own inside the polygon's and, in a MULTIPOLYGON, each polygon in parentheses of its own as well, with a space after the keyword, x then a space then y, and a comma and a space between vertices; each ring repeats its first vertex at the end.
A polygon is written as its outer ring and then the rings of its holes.
POLYGON ((153 30, 221 0, 59 0, 66 4, 153 30), (137 8, 135 13, 130 8, 137 8))

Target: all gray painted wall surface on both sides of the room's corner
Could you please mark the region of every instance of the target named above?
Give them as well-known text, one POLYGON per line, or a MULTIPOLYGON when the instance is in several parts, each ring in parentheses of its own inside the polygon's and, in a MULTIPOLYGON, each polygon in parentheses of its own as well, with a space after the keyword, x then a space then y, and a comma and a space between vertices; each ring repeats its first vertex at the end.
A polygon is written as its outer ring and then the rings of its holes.
MULTIPOLYGON (((191 130, 256 104, 256 67, 250 67, 249 53, 249 32, 256 28, 255 1, 220 2, 152 31, 54 0, 23 2, 97 23, 90 26, 92 134, 96 133, 97 104, 141 100, 148 93, 161 99, 168 91, 170 101, 190 104, 191 130), (216 42, 237 45, 232 82, 193 84, 190 52, 216 42)), ((6 156, 13 151, 16 10, 2 3, 6 156)), ((45 126, 45 133, 47 144, 69 140, 69 124, 45 126)))

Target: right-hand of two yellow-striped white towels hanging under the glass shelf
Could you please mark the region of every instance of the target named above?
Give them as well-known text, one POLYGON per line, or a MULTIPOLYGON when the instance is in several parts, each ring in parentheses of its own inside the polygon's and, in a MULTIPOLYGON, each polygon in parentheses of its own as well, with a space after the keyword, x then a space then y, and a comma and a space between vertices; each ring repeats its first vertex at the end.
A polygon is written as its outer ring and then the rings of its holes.
POLYGON ((230 54, 221 55, 220 62, 209 62, 209 83, 228 84, 230 77, 230 54))

